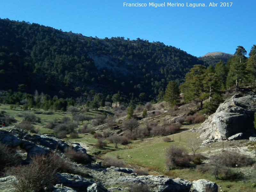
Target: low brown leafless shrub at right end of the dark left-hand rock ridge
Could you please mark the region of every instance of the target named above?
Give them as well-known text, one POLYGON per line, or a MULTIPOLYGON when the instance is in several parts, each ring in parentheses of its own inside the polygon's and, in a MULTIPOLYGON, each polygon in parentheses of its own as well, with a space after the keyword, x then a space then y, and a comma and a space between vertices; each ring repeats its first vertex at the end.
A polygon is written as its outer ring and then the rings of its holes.
POLYGON ((88 164, 91 162, 89 156, 86 153, 81 153, 79 151, 74 150, 73 148, 69 147, 65 151, 65 156, 77 163, 81 164, 88 164))

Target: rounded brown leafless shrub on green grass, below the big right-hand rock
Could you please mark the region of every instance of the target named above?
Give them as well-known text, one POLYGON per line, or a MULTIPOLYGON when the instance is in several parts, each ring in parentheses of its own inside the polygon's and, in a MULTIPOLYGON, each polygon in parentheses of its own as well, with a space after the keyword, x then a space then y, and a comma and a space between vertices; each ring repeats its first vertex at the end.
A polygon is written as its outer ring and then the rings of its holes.
POLYGON ((166 154, 166 166, 170 169, 175 167, 187 167, 190 164, 190 159, 185 148, 171 146, 166 154))

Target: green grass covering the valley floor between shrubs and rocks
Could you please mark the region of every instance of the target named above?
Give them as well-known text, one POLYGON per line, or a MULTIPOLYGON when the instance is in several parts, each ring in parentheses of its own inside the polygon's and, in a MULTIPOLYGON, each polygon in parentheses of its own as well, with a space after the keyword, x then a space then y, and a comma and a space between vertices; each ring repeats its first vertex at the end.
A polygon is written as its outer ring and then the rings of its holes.
MULTIPOLYGON (((10 116, 14 116, 15 119, 18 120, 18 125, 22 121, 22 117, 18 115, 23 113, 21 108, 16 108, 15 110, 10 110, 10 105, 1 104, 0 111, 5 111, 6 114, 10 116)), ((29 112, 33 113, 32 110, 29 112)), ((86 115, 90 115, 92 117, 97 116, 100 114, 99 111, 90 111, 86 115)), ((165 114, 164 114, 165 115, 165 114)), ((164 116, 163 115, 163 116, 164 116)), ((53 130, 46 129, 45 126, 54 119, 61 119, 64 116, 68 116, 72 118, 70 113, 64 112, 54 112, 51 115, 36 115, 41 118, 41 123, 34 124, 35 128, 40 130, 40 133, 43 134, 52 134, 53 130)), ((165 116, 164 116, 165 117, 165 116)), ((84 122, 85 123, 85 122, 84 122)), ((87 122, 86 122, 87 123, 87 122)), ((81 124, 80 124, 81 125, 81 124)), ((198 133, 188 132, 189 129, 198 129, 200 124, 195 125, 185 125, 181 128, 181 132, 176 133, 174 135, 168 136, 172 141, 171 142, 164 142, 162 137, 151 137, 146 140, 134 140, 131 141, 130 144, 123 146, 118 144, 118 148, 115 148, 115 144, 108 143, 108 145, 104 148, 94 148, 90 147, 88 150, 89 154, 98 154, 95 156, 112 156, 116 157, 119 156, 121 160, 124 160, 127 164, 136 164, 141 167, 148 168, 149 170, 156 171, 161 175, 170 176, 171 178, 183 178, 186 180, 198 180, 198 179, 207 179, 213 182, 216 182, 219 186, 221 186, 222 192, 237 192, 237 191, 256 191, 256 188, 252 187, 252 182, 248 180, 245 181, 236 181, 231 182, 228 180, 216 180, 214 176, 209 174, 203 174, 199 172, 195 167, 191 166, 190 168, 185 169, 175 169, 175 170, 167 170, 165 166, 166 160, 166 151, 171 145, 182 146, 186 148, 189 154, 192 154, 191 146, 189 144, 190 138, 198 138, 198 133), (150 140, 152 139, 152 140, 150 140), (128 157, 128 156, 131 156, 128 157)), ((101 132, 101 131, 100 131, 101 132)), ((93 146, 98 140, 93 138, 93 135, 90 133, 87 134, 78 134, 78 138, 76 139, 69 139, 69 135, 65 140, 70 140, 73 142, 84 142, 88 146, 93 146)), ((197 139, 200 141, 200 139, 197 139)), ((245 141, 239 141, 239 144, 244 144, 245 141)), ((254 150, 255 143, 248 143, 248 147, 254 150)), ((221 150, 223 147, 222 142, 214 142, 211 143, 209 146, 203 146, 196 151, 196 153, 202 153, 204 156, 211 155, 214 150, 221 150)), ((224 149, 227 147, 235 148, 236 144, 230 144, 228 142, 224 142, 224 149)), ((238 171, 238 170, 237 170, 238 171)), ((156 174, 156 172, 150 172, 150 174, 156 174)), ((243 171, 242 171, 243 172, 243 171)))

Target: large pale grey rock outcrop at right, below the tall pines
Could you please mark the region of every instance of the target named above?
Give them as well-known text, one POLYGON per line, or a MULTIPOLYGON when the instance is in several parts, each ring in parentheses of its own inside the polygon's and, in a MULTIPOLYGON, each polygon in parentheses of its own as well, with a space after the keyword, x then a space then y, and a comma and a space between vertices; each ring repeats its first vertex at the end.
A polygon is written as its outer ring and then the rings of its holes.
POLYGON ((255 131, 255 111, 256 96, 234 95, 220 104, 216 112, 201 125, 198 130, 201 133, 200 138, 226 140, 232 135, 243 133, 243 137, 248 139, 249 133, 253 134, 255 131))

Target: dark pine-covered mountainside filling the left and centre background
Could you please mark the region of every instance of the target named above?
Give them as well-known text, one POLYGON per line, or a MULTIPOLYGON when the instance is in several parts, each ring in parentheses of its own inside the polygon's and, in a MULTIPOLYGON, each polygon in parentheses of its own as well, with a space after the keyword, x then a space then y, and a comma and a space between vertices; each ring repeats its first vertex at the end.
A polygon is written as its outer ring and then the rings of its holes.
POLYGON ((108 98, 119 93, 128 103, 155 100, 169 81, 179 84, 193 65, 203 64, 160 42, 99 39, 25 21, 1 19, 0 39, 1 90, 85 102, 95 92, 108 98))

